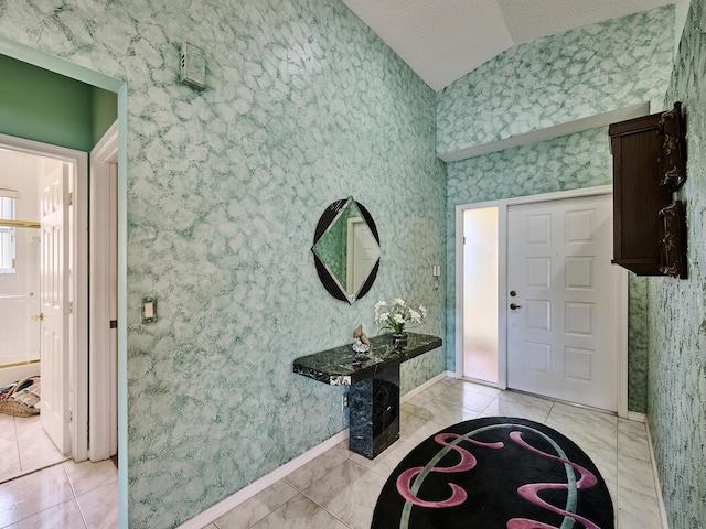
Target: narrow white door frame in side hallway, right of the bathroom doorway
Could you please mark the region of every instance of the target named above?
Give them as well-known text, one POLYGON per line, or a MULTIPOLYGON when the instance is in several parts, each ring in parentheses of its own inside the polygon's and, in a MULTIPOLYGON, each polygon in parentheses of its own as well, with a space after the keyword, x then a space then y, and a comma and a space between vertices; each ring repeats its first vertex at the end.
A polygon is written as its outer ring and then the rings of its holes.
POLYGON ((88 283, 88 435, 90 461, 103 461, 117 453, 117 350, 111 346, 116 330, 107 322, 117 320, 114 313, 116 285, 111 272, 115 253, 118 165, 118 122, 116 121, 90 151, 90 261, 88 283))

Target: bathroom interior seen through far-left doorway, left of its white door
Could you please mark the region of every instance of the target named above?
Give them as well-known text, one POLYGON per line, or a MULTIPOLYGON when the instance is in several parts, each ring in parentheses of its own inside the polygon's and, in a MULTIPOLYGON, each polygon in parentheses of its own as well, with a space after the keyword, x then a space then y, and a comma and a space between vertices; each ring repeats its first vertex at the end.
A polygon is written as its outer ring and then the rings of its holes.
MULTIPOLYGON (((0 482, 65 461, 39 415, 55 381, 42 357, 42 284, 40 176, 57 165, 52 158, 10 149, 0 143, 0 391, 18 382, 24 388, 26 415, 0 415, 0 482), (45 373, 42 373, 44 370, 45 373), (29 414, 36 413, 36 414, 29 414)), ((61 395, 61 392, 60 392, 61 395)), ((50 399, 51 400, 51 399, 50 399)), ((50 413, 51 414, 51 413, 50 413)), ((47 419, 44 413, 44 420, 47 419)), ((54 433, 54 432, 53 432, 54 433)))

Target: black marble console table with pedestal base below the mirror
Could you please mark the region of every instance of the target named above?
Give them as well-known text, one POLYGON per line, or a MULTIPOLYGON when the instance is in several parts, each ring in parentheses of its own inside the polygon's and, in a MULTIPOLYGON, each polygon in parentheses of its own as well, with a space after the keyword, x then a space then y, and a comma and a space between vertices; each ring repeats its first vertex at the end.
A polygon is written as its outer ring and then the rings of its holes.
POLYGON ((407 335, 407 345, 399 348, 393 346, 389 334, 371 338, 364 359, 356 359, 347 344, 295 360, 298 375, 351 387, 349 445, 370 460, 399 439, 399 364, 441 347, 438 336, 407 335))

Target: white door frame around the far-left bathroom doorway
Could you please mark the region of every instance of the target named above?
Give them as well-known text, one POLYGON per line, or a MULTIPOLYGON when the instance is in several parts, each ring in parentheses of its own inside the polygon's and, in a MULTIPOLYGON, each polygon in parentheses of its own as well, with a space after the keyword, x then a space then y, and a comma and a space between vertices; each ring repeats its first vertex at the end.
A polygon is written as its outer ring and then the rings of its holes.
MULTIPOLYGON (((68 184, 73 191, 73 203, 69 205, 71 234, 74 264, 74 278, 88 277, 88 154, 65 147, 52 145, 33 140, 25 140, 8 134, 0 134, 0 144, 9 149, 54 158, 74 166, 73 182, 68 184)), ((88 457, 88 281, 72 281, 68 302, 69 312, 69 408, 72 432, 72 456, 76 462, 88 457)))

